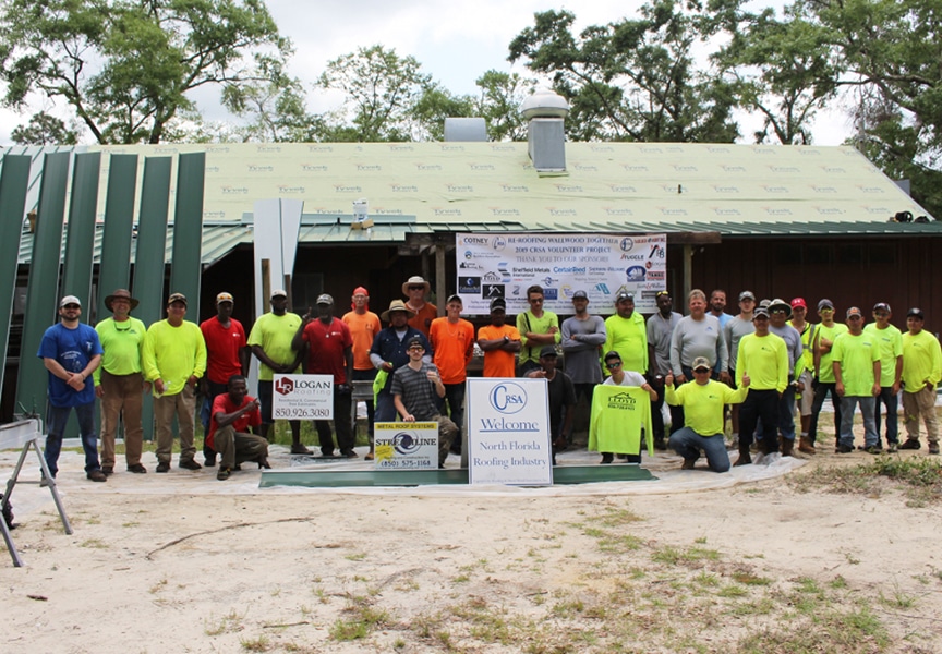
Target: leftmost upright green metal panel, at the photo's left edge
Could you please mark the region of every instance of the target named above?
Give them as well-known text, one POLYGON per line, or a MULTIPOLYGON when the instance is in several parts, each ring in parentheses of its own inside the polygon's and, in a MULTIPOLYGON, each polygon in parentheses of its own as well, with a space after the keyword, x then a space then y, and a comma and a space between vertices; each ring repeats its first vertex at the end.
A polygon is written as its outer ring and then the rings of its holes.
MULTIPOLYGON (((28 156, 7 155, 0 169, 0 347, 9 352, 10 322, 16 292, 16 259, 29 187, 28 156)), ((0 389, 3 388, 5 365, 0 365, 0 389)), ((2 392, 2 391, 0 391, 2 392)))

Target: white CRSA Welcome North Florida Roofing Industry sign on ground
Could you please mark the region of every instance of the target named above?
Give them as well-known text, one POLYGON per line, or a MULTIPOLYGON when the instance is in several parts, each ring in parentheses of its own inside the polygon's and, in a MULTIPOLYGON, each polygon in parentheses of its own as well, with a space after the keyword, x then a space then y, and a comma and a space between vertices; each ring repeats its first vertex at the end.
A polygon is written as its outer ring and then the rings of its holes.
POLYGON ((469 377, 467 402, 469 483, 553 483, 546 379, 469 377))

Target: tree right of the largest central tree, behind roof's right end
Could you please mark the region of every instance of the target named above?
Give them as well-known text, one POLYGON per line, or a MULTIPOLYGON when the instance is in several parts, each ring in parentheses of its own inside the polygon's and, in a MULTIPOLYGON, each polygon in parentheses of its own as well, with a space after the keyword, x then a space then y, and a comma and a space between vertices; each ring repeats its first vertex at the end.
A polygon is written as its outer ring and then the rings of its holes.
POLYGON ((762 114, 756 143, 810 144, 811 122, 836 97, 841 77, 826 31, 788 8, 784 21, 766 9, 732 23, 732 39, 713 61, 737 104, 762 114))

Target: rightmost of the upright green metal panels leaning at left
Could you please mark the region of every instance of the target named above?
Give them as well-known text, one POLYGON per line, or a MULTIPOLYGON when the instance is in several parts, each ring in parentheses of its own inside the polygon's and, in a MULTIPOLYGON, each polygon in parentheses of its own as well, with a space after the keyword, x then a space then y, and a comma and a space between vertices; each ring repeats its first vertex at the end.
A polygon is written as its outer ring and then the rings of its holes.
POLYGON ((200 322, 200 279, 203 245, 203 179, 206 153, 180 155, 177 167, 177 205, 173 213, 173 264, 170 292, 189 300, 186 319, 200 322))

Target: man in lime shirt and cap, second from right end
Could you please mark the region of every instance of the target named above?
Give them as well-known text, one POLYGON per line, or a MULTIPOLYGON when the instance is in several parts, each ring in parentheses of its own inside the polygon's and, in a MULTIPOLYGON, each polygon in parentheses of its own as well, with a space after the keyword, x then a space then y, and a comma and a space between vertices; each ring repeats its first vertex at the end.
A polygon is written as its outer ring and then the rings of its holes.
POLYGON ((877 423, 877 446, 880 444, 880 405, 886 407, 886 450, 895 452, 899 444, 899 387, 903 382, 903 334, 890 324, 893 312, 885 302, 873 305, 873 323, 863 327, 880 346, 880 395, 877 396, 873 417, 877 423))

